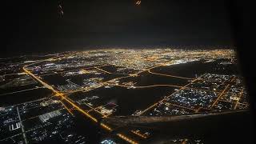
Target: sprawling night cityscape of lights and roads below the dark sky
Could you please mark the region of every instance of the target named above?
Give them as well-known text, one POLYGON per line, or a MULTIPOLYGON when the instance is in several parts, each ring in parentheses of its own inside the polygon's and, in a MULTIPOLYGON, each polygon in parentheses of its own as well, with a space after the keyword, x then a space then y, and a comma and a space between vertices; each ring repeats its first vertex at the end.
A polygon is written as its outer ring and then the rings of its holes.
POLYGON ((1 58, 0 143, 250 143, 237 62, 234 50, 1 58))

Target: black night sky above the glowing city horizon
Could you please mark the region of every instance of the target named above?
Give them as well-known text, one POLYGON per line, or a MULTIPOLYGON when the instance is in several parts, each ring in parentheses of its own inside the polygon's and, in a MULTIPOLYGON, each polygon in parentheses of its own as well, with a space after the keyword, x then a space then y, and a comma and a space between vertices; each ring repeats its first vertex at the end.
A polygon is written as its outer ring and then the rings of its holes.
POLYGON ((139 6, 134 0, 8 1, 6 8, 5 55, 233 45, 226 3, 220 0, 142 0, 139 6))

